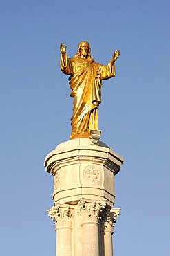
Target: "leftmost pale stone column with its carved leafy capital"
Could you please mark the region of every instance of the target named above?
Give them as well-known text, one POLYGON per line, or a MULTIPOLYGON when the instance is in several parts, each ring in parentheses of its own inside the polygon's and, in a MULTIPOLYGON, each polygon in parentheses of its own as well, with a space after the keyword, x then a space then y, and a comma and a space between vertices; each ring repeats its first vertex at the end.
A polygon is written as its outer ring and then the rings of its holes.
POLYGON ((56 226, 56 256, 72 256, 72 209, 70 205, 54 204, 47 212, 56 226))

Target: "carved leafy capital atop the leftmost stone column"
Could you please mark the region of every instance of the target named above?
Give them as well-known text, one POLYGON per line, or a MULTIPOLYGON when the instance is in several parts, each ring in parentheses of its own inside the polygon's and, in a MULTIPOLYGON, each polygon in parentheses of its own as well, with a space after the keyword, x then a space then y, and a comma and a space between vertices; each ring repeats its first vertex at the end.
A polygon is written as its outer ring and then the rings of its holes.
POLYGON ((61 227, 72 228, 72 206, 54 203, 54 206, 50 210, 47 210, 47 212, 55 224, 56 229, 61 227))

